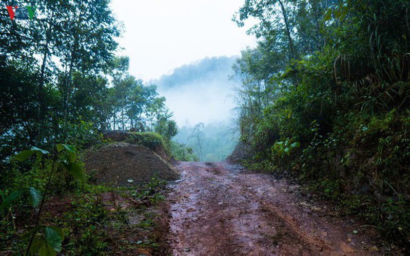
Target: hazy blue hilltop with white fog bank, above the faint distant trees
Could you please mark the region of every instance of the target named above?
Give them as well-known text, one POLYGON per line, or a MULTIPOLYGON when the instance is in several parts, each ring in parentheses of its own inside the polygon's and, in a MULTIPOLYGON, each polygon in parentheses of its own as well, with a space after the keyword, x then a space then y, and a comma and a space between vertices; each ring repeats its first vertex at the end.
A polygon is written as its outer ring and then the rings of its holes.
POLYGON ((229 76, 236 58, 205 58, 152 81, 157 84, 159 94, 167 99, 166 104, 179 126, 231 118, 235 104, 230 97, 234 84, 229 76))

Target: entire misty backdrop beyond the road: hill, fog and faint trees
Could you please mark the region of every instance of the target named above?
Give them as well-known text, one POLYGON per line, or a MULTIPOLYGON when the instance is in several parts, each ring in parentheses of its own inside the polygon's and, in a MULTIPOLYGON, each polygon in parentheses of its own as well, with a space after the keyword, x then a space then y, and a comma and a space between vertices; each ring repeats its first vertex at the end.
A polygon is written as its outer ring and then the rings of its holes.
POLYGON ((236 59, 205 58, 152 81, 180 127, 174 140, 191 147, 201 161, 225 159, 238 141, 232 119, 235 84, 229 79, 236 59))

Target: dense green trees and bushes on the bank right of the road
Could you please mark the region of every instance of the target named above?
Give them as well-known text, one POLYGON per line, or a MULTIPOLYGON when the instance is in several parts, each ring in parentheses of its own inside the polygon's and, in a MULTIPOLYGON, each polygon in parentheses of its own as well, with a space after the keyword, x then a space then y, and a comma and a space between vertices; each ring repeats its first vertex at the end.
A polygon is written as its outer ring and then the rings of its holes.
POLYGON ((406 0, 246 0, 233 17, 239 26, 257 20, 248 32, 258 47, 242 52, 233 78, 251 167, 296 176, 404 243, 409 8, 406 0))

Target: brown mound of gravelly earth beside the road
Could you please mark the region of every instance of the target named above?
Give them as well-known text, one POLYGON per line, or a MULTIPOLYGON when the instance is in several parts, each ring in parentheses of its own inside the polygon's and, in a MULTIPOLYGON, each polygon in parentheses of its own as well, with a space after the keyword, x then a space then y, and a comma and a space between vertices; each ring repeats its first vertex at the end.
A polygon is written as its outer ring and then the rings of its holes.
POLYGON ((176 180, 177 170, 149 148, 128 143, 112 143, 85 155, 85 167, 95 172, 97 183, 135 185, 153 177, 176 180))

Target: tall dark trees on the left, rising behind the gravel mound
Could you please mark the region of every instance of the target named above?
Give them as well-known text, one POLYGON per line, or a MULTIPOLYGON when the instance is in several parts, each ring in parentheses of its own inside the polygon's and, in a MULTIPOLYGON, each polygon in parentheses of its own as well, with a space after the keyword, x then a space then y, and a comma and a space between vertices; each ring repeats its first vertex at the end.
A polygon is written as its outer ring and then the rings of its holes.
POLYGON ((32 145, 85 145, 97 130, 165 135, 169 124, 174 135, 165 98, 114 55, 120 27, 108 3, 36 1, 32 20, 11 21, 1 9, 2 159, 32 145))

